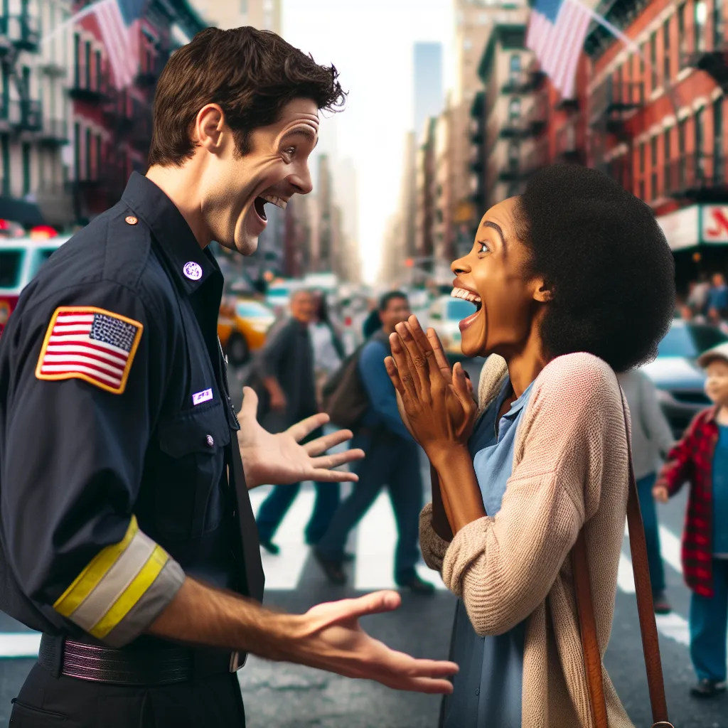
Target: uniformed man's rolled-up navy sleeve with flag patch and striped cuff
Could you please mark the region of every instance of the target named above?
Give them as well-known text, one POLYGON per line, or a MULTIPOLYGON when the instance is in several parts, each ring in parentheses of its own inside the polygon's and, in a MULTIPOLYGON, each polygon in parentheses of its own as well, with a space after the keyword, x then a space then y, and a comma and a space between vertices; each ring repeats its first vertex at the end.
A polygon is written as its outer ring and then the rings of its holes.
POLYGON ((134 515, 171 365, 146 311, 138 293, 98 282, 27 306, 3 341, 15 362, 0 443, 9 566, 41 611, 111 646, 146 631, 185 578, 134 515))

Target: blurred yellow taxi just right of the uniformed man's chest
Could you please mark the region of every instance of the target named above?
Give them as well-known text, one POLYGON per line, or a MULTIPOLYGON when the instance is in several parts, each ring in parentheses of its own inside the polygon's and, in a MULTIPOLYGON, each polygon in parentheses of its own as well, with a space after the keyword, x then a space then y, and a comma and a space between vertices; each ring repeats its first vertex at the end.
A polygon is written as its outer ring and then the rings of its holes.
POLYGON ((229 363, 234 366, 245 364, 250 352, 263 346, 274 321, 273 310, 261 301, 235 296, 223 299, 218 336, 229 363))

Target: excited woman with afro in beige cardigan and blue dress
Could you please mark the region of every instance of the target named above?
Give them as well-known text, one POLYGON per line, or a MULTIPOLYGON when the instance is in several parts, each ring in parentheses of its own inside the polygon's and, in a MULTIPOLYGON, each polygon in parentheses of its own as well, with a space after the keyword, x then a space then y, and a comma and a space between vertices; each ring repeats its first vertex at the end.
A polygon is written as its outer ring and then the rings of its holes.
MULTIPOLYGON (((460 598, 442 724, 590 727, 569 553, 585 526, 604 654, 628 493, 614 371, 654 357, 673 258, 647 205, 596 170, 554 165, 488 210, 452 269, 454 295, 478 306, 460 328, 464 355, 488 357, 480 406, 414 317, 387 358, 432 466, 422 553, 460 598)), ((631 727, 604 683, 609 726, 631 727)))

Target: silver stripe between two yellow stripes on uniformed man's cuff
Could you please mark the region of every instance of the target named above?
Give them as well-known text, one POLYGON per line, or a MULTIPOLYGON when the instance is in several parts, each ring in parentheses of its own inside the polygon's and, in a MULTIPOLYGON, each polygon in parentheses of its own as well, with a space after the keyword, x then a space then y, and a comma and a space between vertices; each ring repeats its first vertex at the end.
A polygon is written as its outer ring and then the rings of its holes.
POLYGON ((116 559, 103 579, 71 614, 71 620, 90 632, 111 609, 127 587, 144 568, 157 544, 142 531, 137 531, 124 553, 116 559))

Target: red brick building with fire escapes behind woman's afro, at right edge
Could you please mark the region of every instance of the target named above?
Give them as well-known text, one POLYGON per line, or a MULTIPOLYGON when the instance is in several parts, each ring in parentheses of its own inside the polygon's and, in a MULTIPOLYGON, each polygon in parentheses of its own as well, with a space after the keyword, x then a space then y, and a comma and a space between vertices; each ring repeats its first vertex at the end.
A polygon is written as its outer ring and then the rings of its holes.
POLYGON ((678 290, 728 267, 728 10, 721 0, 609 0, 585 44, 589 158, 652 206, 678 290))

